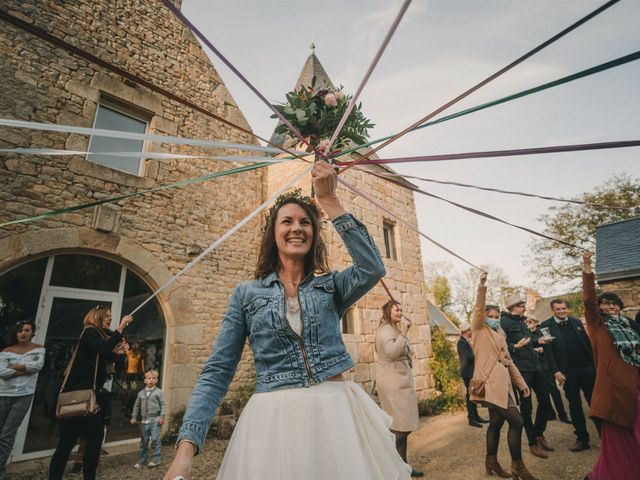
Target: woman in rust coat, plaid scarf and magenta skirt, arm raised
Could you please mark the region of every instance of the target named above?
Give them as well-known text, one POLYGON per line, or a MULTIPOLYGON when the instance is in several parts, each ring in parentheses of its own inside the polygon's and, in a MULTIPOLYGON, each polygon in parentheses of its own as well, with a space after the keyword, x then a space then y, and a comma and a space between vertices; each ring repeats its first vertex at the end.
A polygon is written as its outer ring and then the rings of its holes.
POLYGON ((596 296, 592 253, 583 254, 582 298, 596 383, 589 416, 602 420, 600 456, 589 480, 640 478, 640 327, 615 293, 596 296))

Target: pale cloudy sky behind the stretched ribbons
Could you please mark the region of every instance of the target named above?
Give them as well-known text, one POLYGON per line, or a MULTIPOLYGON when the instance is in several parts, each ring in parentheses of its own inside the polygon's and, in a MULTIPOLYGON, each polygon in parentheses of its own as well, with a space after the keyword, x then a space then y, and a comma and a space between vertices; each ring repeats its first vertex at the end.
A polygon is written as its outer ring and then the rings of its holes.
MULTIPOLYGON (((408 127, 590 13, 604 1, 414 0, 360 99, 371 138, 408 127)), ((183 13, 271 102, 284 101, 309 45, 335 85, 354 93, 400 1, 184 0, 183 13)), ((453 113, 640 49, 640 0, 623 0, 446 110, 453 113)), ((224 64, 214 67, 253 131, 269 138, 270 110, 224 64)), ((410 133, 381 158, 636 140, 640 61, 410 133)), ((571 197, 613 174, 640 178, 640 148, 395 164, 402 174, 571 197)), ((416 182, 421 188, 541 231, 557 202, 416 182)), ((475 264, 501 267, 532 285, 532 236, 417 195, 421 231, 475 264)), ((425 262, 466 266, 423 241, 425 262)), ((562 289, 562 286, 558 287, 562 289)), ((548 292, 551 293, 551 292, 548 292)), ((555 293, 555 292, 554 292, 555 293)))

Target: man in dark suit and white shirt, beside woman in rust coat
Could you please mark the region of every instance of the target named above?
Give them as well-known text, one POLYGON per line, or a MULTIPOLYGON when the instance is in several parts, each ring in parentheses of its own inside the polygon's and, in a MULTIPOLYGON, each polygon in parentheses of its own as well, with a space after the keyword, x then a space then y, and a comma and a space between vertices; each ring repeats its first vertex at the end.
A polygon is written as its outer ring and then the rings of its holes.
MULTIPOLYGON (((575 428, 576 443, 570 448, 572 452, 581 452, 590 448, 587 421, 582 410, 580 391, 591 405, 591 394, 596 380, 596 369, 593 363, 593 352, 582 322, 569 317, 569 309, 564 300, 551 301, 553 317, 542 323, 549 329, 557 371, 555 379, 564 386, 564 394, 569 402, 571 423, 575 428)), ((596 423, 596 427, 598 424, 596 423)))

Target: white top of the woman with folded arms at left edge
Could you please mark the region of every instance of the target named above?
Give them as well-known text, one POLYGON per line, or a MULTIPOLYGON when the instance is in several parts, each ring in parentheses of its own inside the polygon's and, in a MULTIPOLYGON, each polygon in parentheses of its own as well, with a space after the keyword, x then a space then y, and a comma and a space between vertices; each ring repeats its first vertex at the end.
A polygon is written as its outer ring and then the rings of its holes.
POLYGON ((44 347, 34 348, 24 354, 0 352, 0 397, 20 397, 36 391, 37 373, 44 366, 44 347), (16 372, 9 365, 22 364, 30 375, 14 377, 16 372))

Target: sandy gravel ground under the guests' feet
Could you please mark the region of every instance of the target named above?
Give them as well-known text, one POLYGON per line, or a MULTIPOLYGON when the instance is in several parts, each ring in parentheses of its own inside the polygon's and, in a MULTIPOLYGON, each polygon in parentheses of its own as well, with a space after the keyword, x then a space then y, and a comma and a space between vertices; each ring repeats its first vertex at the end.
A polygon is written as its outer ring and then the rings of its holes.
MULTIPOLYGON (((586 405, 585 405, 586 408, 586 405)), ((481 409, 481 415, 488 416, 481 409)), ((523 460, 531 473, 539 479, 581 480, 595 464, 598 455, 598 435, 591 422, 589 429, 592 439, 596 439, 591 450, 580 453, 569 451, 575 441, 573 427, 561 422, 549 422, 546 438, 555 448, 549 459, 543 460, 529 453, 526 437, 523 434, 523 460)), ((506 445, 507 425, 503 427, 498 459, 502 466, 510 466, 506 445)), ((422 420, 420 430, 409 436, 409 462, 418 470, 423 470, 427 479, 438 480, 475 480, 488 479, 484 472, 485 428, 473 428, 467 425, 466 415, 439 415, 422 420)), ((213 479, 224 455, 226 441, 207 440, 204 452, 194 462, 191 479, 213 479)), ((129 446, 131 450, 133 446, 129 446)), ((122 447, 120 447, 122 450, 122 447)), ((172 447, 163 447, 164 462, 161 467, 136 470, 137 452, 113 452, 101 458, 98 469, 99 480, 156 480, 162 477, 173 456, 172 447)), ((34 465, 31 469, 23 465, 19 470, 10 466, 6 480, 41 480, 46 478, 48 461, 34 465)), ((68 475, 66 478, 80 480, 81 475, 68 475)), ((496 478, 496 477, 491 477, 496 478)), ((330 480, 330 479, 327 479, 330 480)))

